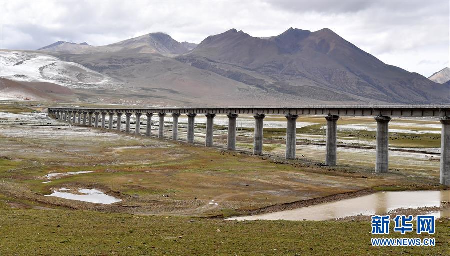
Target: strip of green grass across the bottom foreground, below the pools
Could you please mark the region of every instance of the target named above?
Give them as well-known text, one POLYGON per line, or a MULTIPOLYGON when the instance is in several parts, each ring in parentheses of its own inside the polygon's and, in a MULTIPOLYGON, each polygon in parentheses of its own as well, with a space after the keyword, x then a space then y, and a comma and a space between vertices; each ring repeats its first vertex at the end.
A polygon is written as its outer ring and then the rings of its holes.
POLYGON ((370 222, 223 221, 70 210, 0 210, 4 255, 445 255, 449 221, 431 247, 372 247, 370 222), (62 245, 63 244, 63 245, 62 245), (336 253, 337 252, 337 253, 336 253), (340 253, 339 253, 340 252, 340 253))

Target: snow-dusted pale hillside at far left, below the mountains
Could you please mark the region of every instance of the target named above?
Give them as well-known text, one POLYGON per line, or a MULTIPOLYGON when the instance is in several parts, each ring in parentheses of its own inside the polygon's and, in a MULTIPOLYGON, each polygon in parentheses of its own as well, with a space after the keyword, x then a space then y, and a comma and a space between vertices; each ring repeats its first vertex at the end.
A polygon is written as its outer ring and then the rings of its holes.
POLYGON ((80 64, 39 52, 1 50, 0 76, 26 82, 50 82, 70 88, 111 88, 117 82, 80 64))

